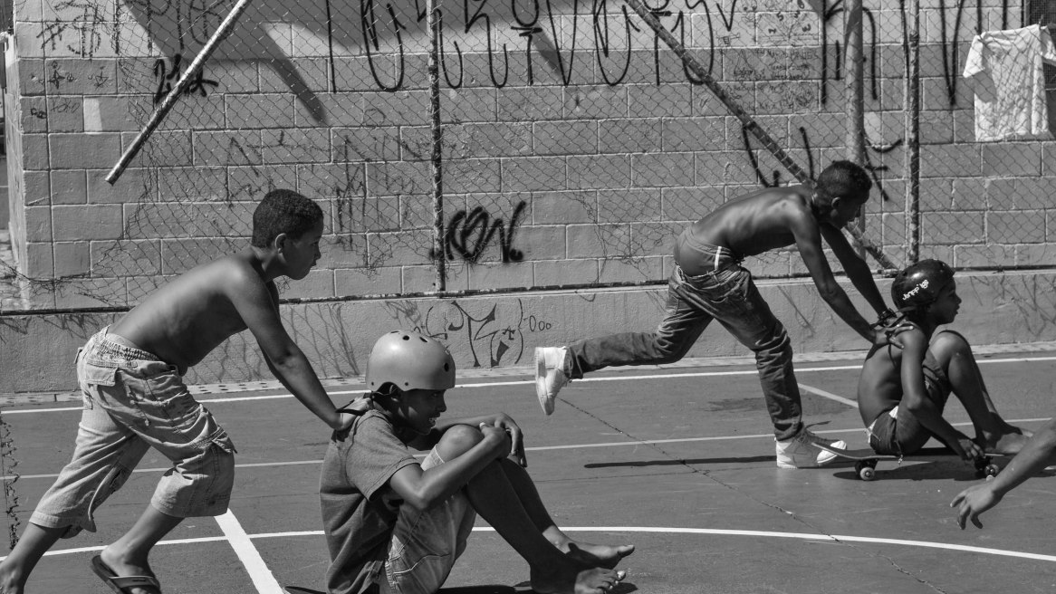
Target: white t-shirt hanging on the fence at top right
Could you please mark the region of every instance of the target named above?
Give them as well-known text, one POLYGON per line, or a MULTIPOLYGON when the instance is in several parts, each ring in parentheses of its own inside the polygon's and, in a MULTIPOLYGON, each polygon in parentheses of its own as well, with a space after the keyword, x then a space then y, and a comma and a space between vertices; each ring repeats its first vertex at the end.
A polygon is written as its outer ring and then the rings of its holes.
POLYGON ((976 94, 976 140, 1051 137, 1042 62, 1056 64, 1056 49, 1040 25, 972 39, 964 78, 976 94))

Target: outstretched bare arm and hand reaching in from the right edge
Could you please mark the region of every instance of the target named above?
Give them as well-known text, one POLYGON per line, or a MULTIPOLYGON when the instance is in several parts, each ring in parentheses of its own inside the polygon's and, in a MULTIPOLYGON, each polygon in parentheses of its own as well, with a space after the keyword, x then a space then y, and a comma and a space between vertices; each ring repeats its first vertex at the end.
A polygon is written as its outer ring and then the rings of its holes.
POLYGON ((1056 464, 1056 419, 1036 432, 997 477, 969 486, 954 498, 949 506, 957 509, 957 525, 964 530, 965 520, 970 519, 976 528, 983 528, 979 521, 980 514, 997 505, 1006 493, 1051 464, 1056 464))

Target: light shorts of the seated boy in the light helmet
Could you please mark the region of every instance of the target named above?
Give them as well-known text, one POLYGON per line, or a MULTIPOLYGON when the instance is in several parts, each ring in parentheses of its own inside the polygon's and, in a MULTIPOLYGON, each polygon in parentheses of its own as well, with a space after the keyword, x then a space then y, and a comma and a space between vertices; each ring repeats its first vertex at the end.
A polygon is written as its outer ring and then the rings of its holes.
MULTIPOLYGON (((433 448, 422 460, 421 470, 442 463, 433 448)), ((425 512, 401 505, 389 542, 380 594, 433 594, 439 590, 466 550, 475 520, 476 512, 464 490, 425 512)))

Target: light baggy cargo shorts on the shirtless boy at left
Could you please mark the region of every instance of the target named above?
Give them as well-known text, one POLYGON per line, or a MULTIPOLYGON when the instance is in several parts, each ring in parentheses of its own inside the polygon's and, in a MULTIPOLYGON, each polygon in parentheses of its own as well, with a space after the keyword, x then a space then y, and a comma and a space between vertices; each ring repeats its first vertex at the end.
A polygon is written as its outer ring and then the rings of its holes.
POLYGON ((234 446, 175 367, 103 328, 78 350, 77 380, 83 409, 73 459, 31 522, 69 526, 64 538, 95 532, 95 510, 125 484, 150 447, 173 463, 151 498, 156 510, 181 518, 227 511, 234 446))

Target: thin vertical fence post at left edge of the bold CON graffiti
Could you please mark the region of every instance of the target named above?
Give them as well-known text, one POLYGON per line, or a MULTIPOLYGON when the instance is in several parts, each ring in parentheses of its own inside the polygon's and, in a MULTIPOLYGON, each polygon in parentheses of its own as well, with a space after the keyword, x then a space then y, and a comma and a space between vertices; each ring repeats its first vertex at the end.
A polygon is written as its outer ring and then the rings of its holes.
POLYGON ((444 170, 442 170, 442 134, 440 126, 440 27, 439 7, 436 0, 428 0, 426 24, 432 37, 432 51, 429 53, 429 111, 433 122, 433 254, 436 264, 436 291, 447 290, 447 253, 445 251, 444 230, 444 170))

